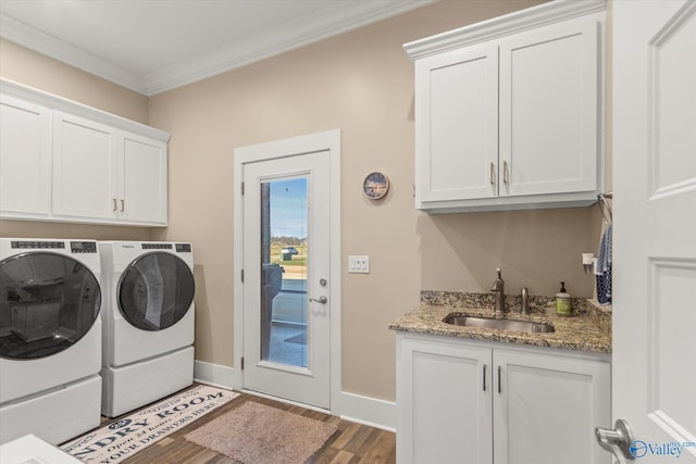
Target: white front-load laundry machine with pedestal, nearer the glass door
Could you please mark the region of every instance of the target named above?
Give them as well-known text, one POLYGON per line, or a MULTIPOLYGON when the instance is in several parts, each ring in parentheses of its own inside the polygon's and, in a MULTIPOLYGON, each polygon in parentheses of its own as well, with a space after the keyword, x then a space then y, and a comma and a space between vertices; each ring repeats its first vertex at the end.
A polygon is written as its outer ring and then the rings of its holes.
POLYGON ((115 417, 194 383, 190 243, 101 241, 101 412, 115 417))

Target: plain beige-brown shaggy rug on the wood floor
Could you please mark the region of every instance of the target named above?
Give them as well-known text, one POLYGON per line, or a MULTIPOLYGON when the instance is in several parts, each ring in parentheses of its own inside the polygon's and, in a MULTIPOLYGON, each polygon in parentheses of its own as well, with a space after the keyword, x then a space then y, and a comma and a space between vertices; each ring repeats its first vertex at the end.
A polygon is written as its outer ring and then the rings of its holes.
POLYGON ((325 422, 247 401, 186 439, 245 464, 302 464, 336 430, 325 422))

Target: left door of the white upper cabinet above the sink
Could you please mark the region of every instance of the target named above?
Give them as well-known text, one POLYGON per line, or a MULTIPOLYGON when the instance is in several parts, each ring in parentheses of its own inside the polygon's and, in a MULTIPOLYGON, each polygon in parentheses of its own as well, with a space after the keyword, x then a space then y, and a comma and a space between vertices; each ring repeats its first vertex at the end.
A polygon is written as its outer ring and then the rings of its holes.
POLYGON ((415 203, 498 196, 498 48, 415 63, 415 203))

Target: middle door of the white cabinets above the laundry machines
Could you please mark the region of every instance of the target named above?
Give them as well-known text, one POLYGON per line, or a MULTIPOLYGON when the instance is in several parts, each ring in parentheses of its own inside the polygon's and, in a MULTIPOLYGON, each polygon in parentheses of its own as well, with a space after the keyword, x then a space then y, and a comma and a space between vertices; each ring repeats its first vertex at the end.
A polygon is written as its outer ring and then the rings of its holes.
POLYGON ((53 113, 53 214, 115 220, 115 134, 112 127, 53 113))

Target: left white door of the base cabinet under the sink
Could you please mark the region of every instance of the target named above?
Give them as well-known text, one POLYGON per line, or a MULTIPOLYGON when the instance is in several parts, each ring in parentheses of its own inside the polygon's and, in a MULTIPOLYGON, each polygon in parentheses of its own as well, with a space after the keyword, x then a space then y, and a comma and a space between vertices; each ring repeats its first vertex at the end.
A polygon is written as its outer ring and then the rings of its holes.
POLYGON ((399 339, 399 464, 490 463, 490 349, 399 339))

